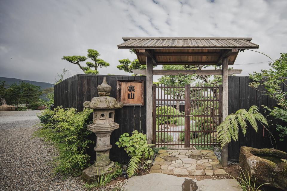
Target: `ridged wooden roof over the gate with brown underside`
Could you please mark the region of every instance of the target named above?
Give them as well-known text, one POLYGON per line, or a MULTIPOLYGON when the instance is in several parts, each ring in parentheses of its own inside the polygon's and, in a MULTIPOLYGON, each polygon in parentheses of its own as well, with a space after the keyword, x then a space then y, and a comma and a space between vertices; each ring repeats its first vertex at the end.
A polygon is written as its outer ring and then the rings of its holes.
POLYGON ((228 57, 233 64, 238 53, 245 49, 257 49, 252 38, 214 37, 124 37, 119 49, 135 49, 138 60, 146 64, 146 56, 154 64, 217 64, 228 57))

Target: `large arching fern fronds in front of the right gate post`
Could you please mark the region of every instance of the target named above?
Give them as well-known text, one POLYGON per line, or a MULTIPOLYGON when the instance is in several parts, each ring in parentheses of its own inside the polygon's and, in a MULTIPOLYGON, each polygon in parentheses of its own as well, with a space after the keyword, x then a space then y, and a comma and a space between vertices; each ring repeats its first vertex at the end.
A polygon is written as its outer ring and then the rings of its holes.
POLYGON ((235 114, 229 114, 224 121, 217 127, 217 139, 221 147, 230 143, 231 139, 238 140, 239 125, 241 126, 243 135, 246 134, 247 122, 257 132, 257 121, 263 125, 268 125, 265 117, 258 112, 259 109, 256 105, 252 105, 248 110, 239 109, 235 114))

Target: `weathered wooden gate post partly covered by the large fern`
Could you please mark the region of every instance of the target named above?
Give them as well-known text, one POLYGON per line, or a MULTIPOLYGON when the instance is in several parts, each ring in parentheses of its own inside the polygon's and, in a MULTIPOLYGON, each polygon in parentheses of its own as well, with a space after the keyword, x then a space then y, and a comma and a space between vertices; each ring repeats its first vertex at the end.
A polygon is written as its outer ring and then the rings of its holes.
MULTIPOLYGON (((225 119, 225 117, 228 116, 228 58, 223 59, 222 64, 222 86, 223 86, 223 92, 222 92, 222 121, 225 119)), ((227 167, 227 161, 228 161, 228 145, 226 144, 222 148, 222 154, 221 154, 221 164, 224 167, 227 167)))

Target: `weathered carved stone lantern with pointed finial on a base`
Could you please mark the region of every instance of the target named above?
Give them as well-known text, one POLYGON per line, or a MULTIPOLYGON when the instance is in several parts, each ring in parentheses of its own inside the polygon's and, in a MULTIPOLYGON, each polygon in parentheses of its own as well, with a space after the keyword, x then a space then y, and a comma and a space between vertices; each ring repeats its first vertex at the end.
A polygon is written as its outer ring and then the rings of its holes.
POLYGON ((96 180, 97 172, 100 175, 116 170, 114 168, 115 163, 110 160, 110 149, 112 148, 110 136, 112 131, 119 128, 119 124, 114 122, 115 109, 123 107, 123 103, 110 97, 112 87, 107 84, 106 77, 97 89, 99 97, 93 97, 90 102, 84 102, 85 108, 94 109, 93 123, 88 125, 88 130, 97 136, 97 144, 94 147, 94 151, 96 151, 95 164, 83 170, 83 179, 87 182, 96 180))

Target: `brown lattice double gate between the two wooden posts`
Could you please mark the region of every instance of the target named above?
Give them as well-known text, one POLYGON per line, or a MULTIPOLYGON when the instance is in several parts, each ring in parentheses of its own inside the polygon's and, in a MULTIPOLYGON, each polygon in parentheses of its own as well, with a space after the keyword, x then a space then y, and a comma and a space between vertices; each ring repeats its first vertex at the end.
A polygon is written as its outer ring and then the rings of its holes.
POLYGON ((214 146, 222 118, 220 86, 153 85, 156 147, 214 146))

